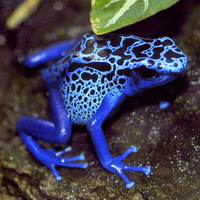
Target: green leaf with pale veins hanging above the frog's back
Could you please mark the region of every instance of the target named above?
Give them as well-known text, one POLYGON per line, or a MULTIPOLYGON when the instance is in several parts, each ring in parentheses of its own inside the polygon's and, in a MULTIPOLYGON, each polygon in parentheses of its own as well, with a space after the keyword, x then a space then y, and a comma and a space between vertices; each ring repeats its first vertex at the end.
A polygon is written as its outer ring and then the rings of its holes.
POLYGON ((91 23, 96 34, 114 31, 166 9, 178 0, 92 0, 91 23))

